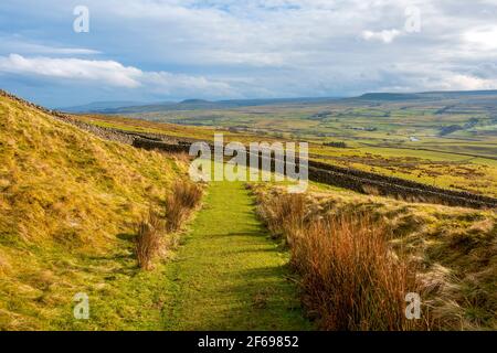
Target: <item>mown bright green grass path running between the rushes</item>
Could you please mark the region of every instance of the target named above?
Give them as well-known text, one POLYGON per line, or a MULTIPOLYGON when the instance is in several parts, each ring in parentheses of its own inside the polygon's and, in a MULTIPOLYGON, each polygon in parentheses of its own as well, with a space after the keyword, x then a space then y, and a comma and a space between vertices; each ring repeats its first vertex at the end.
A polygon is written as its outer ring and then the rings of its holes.
POLYGON ((242 183, 213 182, 170 264, 167 330, 306 330, 287 255, 267 238, 242 183))

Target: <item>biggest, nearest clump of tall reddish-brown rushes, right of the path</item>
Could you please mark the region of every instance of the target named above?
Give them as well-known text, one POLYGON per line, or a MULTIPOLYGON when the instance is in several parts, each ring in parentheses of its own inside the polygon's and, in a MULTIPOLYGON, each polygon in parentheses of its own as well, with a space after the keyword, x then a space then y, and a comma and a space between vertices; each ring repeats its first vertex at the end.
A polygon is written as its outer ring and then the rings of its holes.
POLYGON ((292 265, 303 302, 324 330, 412 330, 405 295, 417 292, 416 269, 395 256, 385 226, 364 215, 313 222, 296 236, 292 265))

